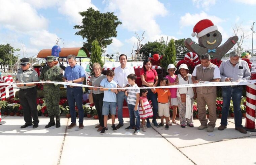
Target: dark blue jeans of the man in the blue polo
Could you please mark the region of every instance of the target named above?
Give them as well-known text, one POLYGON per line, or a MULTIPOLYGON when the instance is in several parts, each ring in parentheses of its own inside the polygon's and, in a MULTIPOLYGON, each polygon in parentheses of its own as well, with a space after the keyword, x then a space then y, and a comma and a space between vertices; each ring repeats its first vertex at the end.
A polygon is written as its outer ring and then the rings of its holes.
POLYGON ((69 110, 71 115, 71 123, 76 123, 76 110, 75 105, 78 108, 78 115, 79 115, 79 124, 83 123, 83 90, 82 87, 74 87, 70 88, 67 87, 67 98, 68 98, 68 104, 69 104, 69 110))

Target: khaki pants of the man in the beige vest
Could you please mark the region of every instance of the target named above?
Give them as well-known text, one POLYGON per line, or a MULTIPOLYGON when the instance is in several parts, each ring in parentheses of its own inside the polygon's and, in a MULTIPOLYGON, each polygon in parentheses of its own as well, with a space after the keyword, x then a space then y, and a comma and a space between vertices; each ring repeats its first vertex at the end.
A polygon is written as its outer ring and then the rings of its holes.
POLYGON ((197 108, 198 108, 198 119, 200 123, 204 126, 207 126, 207 117, 206 117, 206 104, 209 110, 209 123, 208 127, 215 127, 215 122, 217 120, 216 115, 216 93, 205 93, 200 94, 196 93, 196 101, 197 101, 197 108))

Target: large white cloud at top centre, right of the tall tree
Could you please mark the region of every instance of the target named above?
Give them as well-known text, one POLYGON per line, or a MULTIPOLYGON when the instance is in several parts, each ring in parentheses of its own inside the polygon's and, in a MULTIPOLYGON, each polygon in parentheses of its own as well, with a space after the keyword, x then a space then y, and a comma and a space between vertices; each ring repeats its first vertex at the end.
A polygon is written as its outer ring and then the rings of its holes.
POLYGON ((106 10, 115 11, 122 27, 132 32, 145 31, 145 36, 161 34, 156 17, 165 16, 168 12, 164 4, 157 0, 113 0, 109 1, 106 10))

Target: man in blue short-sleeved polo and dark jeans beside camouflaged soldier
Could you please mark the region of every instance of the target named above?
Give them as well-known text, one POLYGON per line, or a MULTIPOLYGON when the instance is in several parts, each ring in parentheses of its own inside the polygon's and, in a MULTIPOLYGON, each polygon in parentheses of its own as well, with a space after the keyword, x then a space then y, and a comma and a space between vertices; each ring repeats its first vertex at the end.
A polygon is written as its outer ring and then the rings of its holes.
MULTIPOLYGON (((66 67, 63 79, 69 83, 82 84, 85 78, 84 68, 76 64, 76 56, 69 55, 67 57, 69 66, 66 67)), ((68 126, 69 129, 76 126, 76 111, 75 105, 78 108, 79 114, 79 129, 83 129, 83 107, 82 107, 82 87, 67 86, 67 98, 69 104, 69 110, 71 115, 71 124, 68 126), (75 104, 76 103, 76 104, 75 104)))

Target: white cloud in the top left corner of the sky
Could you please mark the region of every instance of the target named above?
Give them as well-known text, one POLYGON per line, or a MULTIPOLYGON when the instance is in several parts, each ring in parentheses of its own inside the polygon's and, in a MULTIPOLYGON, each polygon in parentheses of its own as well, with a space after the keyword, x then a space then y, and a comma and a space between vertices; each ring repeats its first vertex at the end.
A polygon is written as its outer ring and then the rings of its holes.
POLYGON ((0 0, 0 4, 0 24, 7 29, 24 32, 47 28, 47 19, 30 4, 21 0, 0 0))

